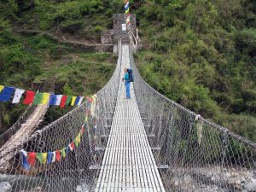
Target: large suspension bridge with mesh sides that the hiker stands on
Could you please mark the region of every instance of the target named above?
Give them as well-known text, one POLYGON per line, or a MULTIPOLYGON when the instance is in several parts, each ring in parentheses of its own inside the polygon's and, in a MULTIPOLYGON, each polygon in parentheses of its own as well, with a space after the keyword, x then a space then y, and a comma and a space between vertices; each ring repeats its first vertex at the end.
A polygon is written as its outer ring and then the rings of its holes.
POLYGON ((0 191, 256 189, 256 144, 150 87, 137 71, 133 45, 119 39, 113 77, 93 102, 84 102, 42 130, 23 137, 18 132, 3 145, 0 191), (131 99, 125 99, 124 67, 134 71, 131 99), (44 161, 44 154, 61 148, 59 160, 56 152, 56 160, 44 161), (24 169, 26 157, 20 152, 43 156, 24 169))

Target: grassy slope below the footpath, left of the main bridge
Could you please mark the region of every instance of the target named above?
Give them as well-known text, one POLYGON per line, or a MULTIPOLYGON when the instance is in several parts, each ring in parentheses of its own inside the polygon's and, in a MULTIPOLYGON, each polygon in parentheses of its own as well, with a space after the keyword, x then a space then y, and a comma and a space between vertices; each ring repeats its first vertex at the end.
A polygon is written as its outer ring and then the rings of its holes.
MULTIPOLYGON (((4 49, 2 50, 5 53, 2 56, 3 59, 6 58, 8 61, 6 62, 8 71, 5 71, 3 82, 1 81, 4 85, 32 89, 32 84, 38 84, 42 79, 56 77, 55 94, 90 96, 108 82, 115 68, 117 58, 112 54, 84 53, 73 46, 57 44, 55 40, 44 35, 15 34, 15 39, 17 50, 11 48, 5 52, 4 49), (20 71, 14 73, 10 67, 18 64, 20 71), (37 67, 36 70, 35 67, 37 67)), ((16 68, 15 70, 18 70, 16 68)), ((0 104, 0 110, 4 112, 4 115, 0 116, 0 119, 3 119, 0 134, 15 123, 24 108, 26 106, 23 104, 18 107, 10 103, 0 104)), ((71 107, 49 108, 43 125, 58 119, 71 109, 71 107)))

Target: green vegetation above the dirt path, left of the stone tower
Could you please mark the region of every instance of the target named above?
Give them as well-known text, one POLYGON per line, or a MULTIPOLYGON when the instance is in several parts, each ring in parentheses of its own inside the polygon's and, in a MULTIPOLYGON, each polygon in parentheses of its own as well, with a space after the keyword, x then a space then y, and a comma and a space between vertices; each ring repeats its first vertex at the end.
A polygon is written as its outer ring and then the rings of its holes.
POLYGON ((66 32, 87 40, 112 26, 112 15, 122 11, 119 0, 19 1, 20 25, 53 32, 66 32), (28 11, 29 10, 29 11, 28 11))

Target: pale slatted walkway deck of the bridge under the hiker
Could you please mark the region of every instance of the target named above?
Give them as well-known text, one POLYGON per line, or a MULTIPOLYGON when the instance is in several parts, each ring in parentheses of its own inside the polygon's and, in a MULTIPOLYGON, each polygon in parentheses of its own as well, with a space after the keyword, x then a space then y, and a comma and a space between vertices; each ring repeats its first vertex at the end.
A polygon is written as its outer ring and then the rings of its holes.
MULTIPOLYGON (((129 47, 122 47, 122 68, 130 67, 129 47)), ((123 71, 120 77, 123 76, 123 71)), ((121 79, 121 78, 120 78, 121 79)), ((131 84, 131 99, 125 99, 120 81, 117 106, 96 183, 102 191, 165 191, 144 130, 131 84)))

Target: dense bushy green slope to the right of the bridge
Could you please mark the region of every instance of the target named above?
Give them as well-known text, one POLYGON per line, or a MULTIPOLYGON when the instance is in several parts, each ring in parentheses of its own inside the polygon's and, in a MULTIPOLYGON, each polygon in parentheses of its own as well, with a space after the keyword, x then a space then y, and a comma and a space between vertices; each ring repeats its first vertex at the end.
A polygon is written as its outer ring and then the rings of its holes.
POLYGON ((143 78, 183 106, 256 141, 256 2, 135 3, 143 78))

